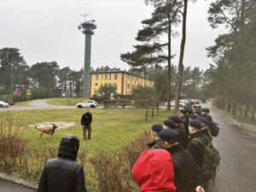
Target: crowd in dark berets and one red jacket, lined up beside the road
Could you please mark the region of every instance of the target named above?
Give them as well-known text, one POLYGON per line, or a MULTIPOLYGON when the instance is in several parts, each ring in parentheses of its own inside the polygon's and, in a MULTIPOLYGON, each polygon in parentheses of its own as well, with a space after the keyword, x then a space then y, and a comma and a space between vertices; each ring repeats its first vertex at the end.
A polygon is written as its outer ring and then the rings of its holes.
POLYGON ((209 177, 202 171, 206 146, 212 145, 212 117, 208 108, 189 106, 151 127, 154 142, 131 171, 142 191, 204 192, 209 177), (150 167, 150 168, 148 168, 150 167))

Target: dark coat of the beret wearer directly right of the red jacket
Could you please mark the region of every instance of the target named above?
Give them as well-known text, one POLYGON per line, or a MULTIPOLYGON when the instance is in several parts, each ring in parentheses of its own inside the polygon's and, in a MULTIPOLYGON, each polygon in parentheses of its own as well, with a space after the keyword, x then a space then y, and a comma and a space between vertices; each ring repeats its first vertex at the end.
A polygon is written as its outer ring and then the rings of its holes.
POLYGON ((167 151, 172 156, 176 191, 195 191, 195 187, 200 183, 200 175, 196 171, 196 164, 192 155, 179 144, 167 148, 167 151))

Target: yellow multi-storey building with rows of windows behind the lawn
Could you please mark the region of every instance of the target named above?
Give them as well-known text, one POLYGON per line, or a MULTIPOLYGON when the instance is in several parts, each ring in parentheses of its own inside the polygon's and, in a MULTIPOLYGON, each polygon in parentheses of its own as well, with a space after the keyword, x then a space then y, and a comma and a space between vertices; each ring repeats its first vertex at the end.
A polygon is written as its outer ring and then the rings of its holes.
POLYGON ((90 73, 90 96, 93 96, 95 91, 104 84, 112 84, 117 87, 117 92, 121 96, 124 96, 131 95, 131 90, 136 88, 137 85, 153 87, 154 81, 143 76, 124 71, 92 72, 90 73))

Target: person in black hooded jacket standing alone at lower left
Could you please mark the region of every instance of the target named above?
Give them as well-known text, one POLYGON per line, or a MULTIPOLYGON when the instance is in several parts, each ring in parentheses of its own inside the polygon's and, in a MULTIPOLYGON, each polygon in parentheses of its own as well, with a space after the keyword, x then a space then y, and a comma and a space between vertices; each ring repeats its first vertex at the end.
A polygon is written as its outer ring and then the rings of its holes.
POLYGON ((38 192, 87 192, 84 184, 84 166, 75 161, 78 152, 78 137, 62 137, 58 158, 48 160, 44 165, 38 192))

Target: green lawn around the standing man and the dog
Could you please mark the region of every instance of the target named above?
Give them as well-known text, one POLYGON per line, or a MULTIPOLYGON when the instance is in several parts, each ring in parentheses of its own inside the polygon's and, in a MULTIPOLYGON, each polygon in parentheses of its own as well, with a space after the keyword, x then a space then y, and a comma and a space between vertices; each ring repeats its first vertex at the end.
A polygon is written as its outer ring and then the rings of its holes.
MULTIPOLYGON (((119 151, 128 143, 131 143, 139 134, 147 131, 154 123, 162 123, 170 115, 166 109, 160 109, 160 116, 148 117, 144 122, 145 109, 132 108, 113 108, 113 109, 90 109, 93 115, 92 132, 90 140, 83 140, 83 131, 80 125, 80 119, 84 109, 40 109, 21 111, 24 121, 28 125, 43 123, 67 121, 76 122, 77 125, 56 130, 52 140, 48 135, 44 135, 41 140, 38 139, 39 131, 30 126, 25 126, 23 137, 27 139, 30 148, 42 148, 44 146, 58 147, 61 137, 67 134, 73 134, 79 137, 80 148, 90 149, 90 154, 99 151, 119 151)), ((155 111, 156 112, 156 111, 155 111)), ((12 113, 12 112, 9 112, 12 113)), ((150 114, 150 113, 149 113, 150 114)))

